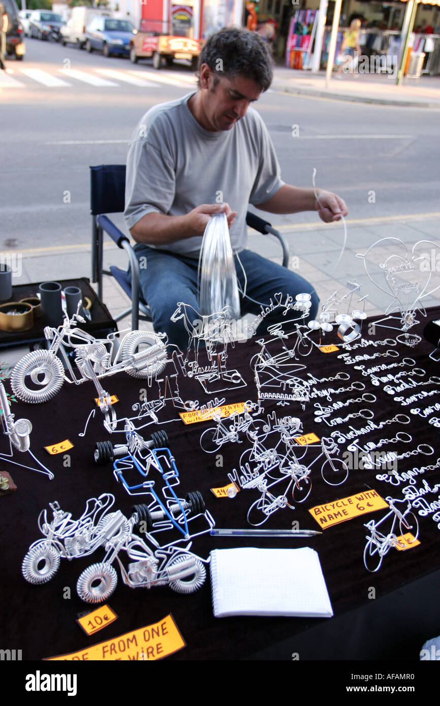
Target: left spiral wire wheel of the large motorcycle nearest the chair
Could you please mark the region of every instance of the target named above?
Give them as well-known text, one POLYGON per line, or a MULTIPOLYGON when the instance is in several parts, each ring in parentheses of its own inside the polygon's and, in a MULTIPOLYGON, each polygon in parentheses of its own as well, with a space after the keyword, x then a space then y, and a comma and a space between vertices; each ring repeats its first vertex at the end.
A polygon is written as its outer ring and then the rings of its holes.
POLYGON ((59 393, 64 383, 64 368, 49 351, 32 351, 25 355, 13 369, 11 387, 18 399, 31 405, 47 402, 59 393), (30 382, 38 388, 30 387, 30 382))

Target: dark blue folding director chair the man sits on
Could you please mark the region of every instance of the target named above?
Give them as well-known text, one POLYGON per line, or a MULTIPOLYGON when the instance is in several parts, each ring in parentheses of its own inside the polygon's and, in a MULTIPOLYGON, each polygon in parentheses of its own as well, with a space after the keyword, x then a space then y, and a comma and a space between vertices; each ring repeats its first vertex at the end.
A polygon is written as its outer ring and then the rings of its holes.
MULTIPOLYGON (((139 320, 152 321, 148 304, 139 292, 139 266, 136 253, 129 239, 107 217, 107 213, 122 213, 125 208, 125 164, 100 164, 90 167, 90 213, 92 215, 92 282, 97 282, 97 294, 102 300, 102 275, 111 275, 131 299, 131 306, 115 317, 114 321, 131 313, 131 328, 138 328, 139 320), (102 250, 104 233, 126 251, 129 258, 129 270, 110 267, 102 269, 102 250)), ((270 223, 254 213, 246 214, 246 223, 263 235, 274 235, 283 249, 283 267, 288 267, 289 250, 283 236, 270 223)))

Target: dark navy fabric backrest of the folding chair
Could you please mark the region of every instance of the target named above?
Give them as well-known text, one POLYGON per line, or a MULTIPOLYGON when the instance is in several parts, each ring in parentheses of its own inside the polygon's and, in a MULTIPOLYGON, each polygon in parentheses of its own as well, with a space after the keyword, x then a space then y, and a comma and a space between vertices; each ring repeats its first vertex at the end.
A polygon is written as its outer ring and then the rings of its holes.
POLYGON ((125 208, 125 164, 90 167, 90 213, 121 213, 125 208))

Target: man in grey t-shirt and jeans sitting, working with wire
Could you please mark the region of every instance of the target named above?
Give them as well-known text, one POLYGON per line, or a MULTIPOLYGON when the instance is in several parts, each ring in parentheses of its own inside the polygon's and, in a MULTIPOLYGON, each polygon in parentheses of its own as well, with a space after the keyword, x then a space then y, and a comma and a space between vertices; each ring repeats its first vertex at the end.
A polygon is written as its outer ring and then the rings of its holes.
MULTIPOLYGON (((268 45, 256 32, 216 32, 200 55, 198 90, 151 108, 131 138, 124 216, 136 240, 141 290, 155 330, 182 349, 188 334, 170 316, 179 301, 199 310, 201 239, 210 215, 219 211, 230 228, 242 313, 260 313, 275 292, 309 293, 309 318, 317 313, 319 298, 309 282, 246 249, 249 203, 269 213, 317 210, 325 222, 347 215, 334 193, 319 189, 317 200, 313 189, 281 179, 267 128, 249 107, 269 88, 272 67, 268 45)), ((261 322, 258 335, 277 313, 261 322)))

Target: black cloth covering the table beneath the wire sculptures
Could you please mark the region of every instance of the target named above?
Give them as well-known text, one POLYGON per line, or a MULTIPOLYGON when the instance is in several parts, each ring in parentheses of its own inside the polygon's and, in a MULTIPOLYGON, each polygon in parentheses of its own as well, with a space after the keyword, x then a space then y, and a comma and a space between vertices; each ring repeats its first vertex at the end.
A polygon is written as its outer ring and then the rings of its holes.
MULTIPOLYGON (((427 319, 422 319, 412 333, 422 334, 426 321, 439 318, 437 309, 427 311, 427 319)), ((365 337, 371 320, 364 321, 362 332, 365 337)), ((398 332, 376 327, 375 336, 371 340, 391 338, 398 332)), ((312 334, 316 336, 317 334, 312 334)), ((326 344, 340 342, 335 331, 326 335, 326 344)), ((277 344, 278 345, 278 344, 277 344)), ((287 342, 287 345, 290 345, 287 342)), ((257 390, 254 373, 249 361, 258 352, 258 344, 250 342, 237 343, 230 347, 227 358, 227 368, 237 369, 248 383, 244 388, 227 390, 222 393, 227 402, 243 402, 257 400, 257 390)), ((386 352, 388 346, 358 347, 352 350, 351 356, 365 353, 386 352)), ((398 343, 395 350, 399 358, 376 357, 374 360, 362 361, 359 365, 365 368, 401 362, 403 358, 415 360, 426 375, 402 376, 400 382, 426 381, 430 376, 439 374, 439 363, 429 359, 432 346, 422 339, 416 347, 408 347, 398 343)), ((281 348, 280 348, 281 350, 281 348)), ((340 352, 343 352, 342 350, 340 352)), ((201 363, 203 356, 201 354, 201 363)), ((393 438, 397 431, 405 431, 412 435, 412 443, 390 445, 381 450, 393 450, 404 453, 426 443, 432 445, 435 453, 430 456, 411 455, 398 461, 398 473, 414 467, 436 465, 440 457, 439 428, 428 423, 436 416, 436 412, 426 419, 411 414, 410 409, 424 409, 435 405, 438 397, 432 395, 407 406, 400 405, 384 390, 385 383, 372 385, 369 376, 362 376, 362 371, 356 370, 353 364, 344 364, 338 358, 338 352, 323 354, 314 348, 307 358, 299 360, 307 364, 307 370, 295 373, 299 378, 306 379, 307 372, 316 378, 328 378, 344 371, 350 374, 350 381, 335 381, 333 383, 315 383, 317 390, 349 385, 360 380, 365 384, 364 392, 376 395, 374 405, 356 404, 335 410, 334 417, 346 417, 357 412, 362 407, 370 407, 374 411, 374 423, 386 421, 396 414, 406 414, 410 424, 388 424, 380 430, 375 430, 364 436, 359 436, 359 443, 379 441, 383 438, 393 438)), ((207 361, 205 361, 205 364, 207 361)), ((410 366, 400 366, 389 369, 390 373, 409 371, 410 366)), ((165 369, 164 375, 172 375, 174 369, 165 369)), ((375 373, 386 376, 387 370, 375 373)), ((182 374, 177 378, 179 394, 182 400, 198 400, 200 405, 208 402, 215 395, 206 395, 200 383, 194 378, 182 374)), ((131 407, 143 397, 143 390, 148 391, 148 399, 157 397, 157 384, 148 388, 146 381, 133 378, 125 373, 104 379, 103 385, 112 395, 117 395, 119 402, 114 405, 118 417, 131 417, 131 407)), ((391 383, 393 384, 393 383, 391 383)), ((8 381, 6 381, 8 388, 8 381)), ((409 396, 420 390, 433 390, 435 385, 408 388, 399 393, 409 396)), ((359 397, 362 393, 338 393, 335 400, 346 401, 359 397)), ((118 635, 128 633, 136 628, 148 626, 172 614, 177 623, 186 647, 167 659, 179 660, 218 660, 218 659, 292 659, 292 654, 298 654, 304 659, 388 659, 399 655, 403 659, 418 660, 422 644, 428 638, 440 634, 440 602, 438 589, 440 578, 439 529, 433 521, 436 510, 427 515, 417 515, 420 532, 420 546, 408 551, 390 549, 383 557, 381 569, 369 573, 364 567, 363 553, 367 530, 364 522, 373 517, 381 519, 387 510, 379 510, 369 515, 362 515, 333 527, 328 527, 323 534, 309 539, 260 539, 218 538, 203 534, 194 540, 192 551, 207 558, 210 550, 226 549, 234 546, 261 547, 291 547, 311 546, 319 553, 323 575, 326 579, 328 593, 333 605, 333 618, 270 618, 237 616, 230 618, 215 618, 211 602, 210 578, 207 572, 206 582, 201 590, 189 595, 173 592, 168 587, 157 587, 150 590, 130 589, 121 580, 119 568, 118 585, 107 603, 116 612, 117 621, 107 626, 105 630, 88 638, 76 623, 78 614, 88 611, 90 606, 81 602, 76 594, 76 581, 81 571, 91 563, 102 561, 103 549, 94 554, 73 561, 61 559, 59 570, 54 578, 44 585, 30 585, 21 573, 21 563, 32 542, 40 539, 37 528, 37 517, 43 508, 47 508, 48 516, 52 517, 49 502, 58 501, 63 510, 69 511, 74 519, 81 516, 88 498, 100 496, 101 493, 114 493, 116 502, 114 509, 119 508, 125 515, 131 514, 133 504, 141 502, 142 498, 129 496, 121 484, 117 483, 112 472, 112 465, 97 466, 93 462, 93 449, 96 441, 104 441, 110 436, 102 426, 102 414, 99 411, 90 420, 87 433, 83 438, 78 436, 85 426, 90 410, 95 404, 96 391, 93 383, 82 385, 64 384, 59 394, 53 400, 43 405, 25 405, 23 402, 13 402, 11 411, 15 419, 27 417, 32 421, 31 450, 53 472, 54 479, 50 481, 43 474, 0 461, 0 470, 7 470, 16 482, 17 491, 0 498, 0 560, 1 560, 1 645, 2 648, 23 651, 23 659, 42 659, 60 654, 68 654, 85 650, 88 646, 110 640, 118 635), (65 466, 64 454, 49 456, 44 446, 52 445, 69 438, 73 448, 69 450, 71 465, 65 466), (70 598, 66 597, 69 587, 70 598)), ((305 409, 299 402, 286 406, 277 406, 276 402, 265 400, 265 414, 276 410, 278 417, 292 415, 302 421, 304 433, 314 432, 319 438, 330 436, 331 429, 323 422, 314 422, 314 402, 326 404, 325 399, 314 397, 305 409), (325 427, 325 429, 324 429, 325 427)), ((199 441, 201 433, 212 421, 185 425, 178 417, 179 410, 167 400, 165 407, 158 413, 160 421, 175 419, 163 426, 154 424, 141 433, 147 438, 151 431, 165 429, 170 440, 170 449, 179 470, 180 486, 177 495, 185 496, 189 491, 199 490, 203 493, 206 506, 213 515, 217 527, 246 527, 246 513, 249 505, 258 497, 256 490, 244 490, 234 498, 215 498, 211 488, 227 484, 227 472, 238 468, 239 457, 243 450, 250 446, 246 436, 241 443, 225 443, 219 449, 222 455, 222 466, 219 466, 218 455, 207 454, 201 450, 199 441)), ((259 417, 263 416, 261 414, 259 417)), ((440 414, 439 414, 440 417, 440 414)), ((350 424, 359 429, 367 424, 367 420, 357 417, 350 419, 338 427, 348 431, 350 424)), ((1 441, 1 440, 0 440, 1 441)), ((113 434, 112 443, 124 443, 123 433, 113 434)), ((346 450, 345 444, 338 445, 340 455, 346 450)), ((8 439, 4 436, 0 450, 8 451, 8 439)), ((309 451, 307 452, 309 453, 309 451)), ((310 452, 311 453, 311 452, 310 452)), ((319 452, 315 452, 311 457, 319 452)), ((28 454, 14 451, 14 460, 32 465, 28 454)), ((295 503, 295 510, 283 509, 270 515, 263 527, 274 529, 290 529, 292 521, 297 520, 299 526, 318 530, 317 522, 311 517, 309 508, 323 502, 345 498, 353 493, 375 489, 383 498, 392 496, 401 498, 403 487, 409 481, 400 482, 396 486, 376 479, 376 470, 352 469, 345 483, 341 486, 327 485, 322 477, 319 462, 311 472, 312 489, 305 503, 295 503)), ((430 491, 424 498, 429 503, 439 502, 440 468, 427 470, 415 478, 414 486, 430 491)), ((159 481, 158 481, 159 484, 159 481)), ((404 504, 398 504, 403 508, 404 504)), ((406 506, 405 506, 406 507, 406 506)), ((438 510, 437 510, 438 511, 438 510)), ((417 514, 417 510, 414 510, 417 514)), ((390 523, 391 524, 391 523, 390 523)), ((397 525, 398 526, 398 525, 397 525)), ((388 527, 388 525, 387 525, 388 527)), ((382 529, 381 527, 379 529, 382 529)), ((388 532, 388 530, 385 530, 388 532)), ((124 553, 123 553, 124 554, 124 553)), ((126 557, 123 557, 126 562, 126 557)))

